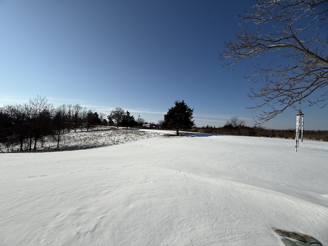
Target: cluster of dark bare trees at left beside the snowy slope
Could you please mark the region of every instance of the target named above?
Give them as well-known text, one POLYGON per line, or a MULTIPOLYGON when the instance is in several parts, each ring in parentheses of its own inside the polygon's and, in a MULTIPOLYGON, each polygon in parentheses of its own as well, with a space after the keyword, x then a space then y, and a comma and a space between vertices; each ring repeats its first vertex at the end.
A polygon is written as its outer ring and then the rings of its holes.
POLYGON ((23 105, 7 105, 0 108, 0 143, 9 151, 18 144, 19 151, 36 150, 43 146, 46 137, 59 141, 64 133, 77 129, 88 131, 95 125, 101 125, 105 114, 93 112, 80 105, 53 107, 46 97, 37 96, 23 105))

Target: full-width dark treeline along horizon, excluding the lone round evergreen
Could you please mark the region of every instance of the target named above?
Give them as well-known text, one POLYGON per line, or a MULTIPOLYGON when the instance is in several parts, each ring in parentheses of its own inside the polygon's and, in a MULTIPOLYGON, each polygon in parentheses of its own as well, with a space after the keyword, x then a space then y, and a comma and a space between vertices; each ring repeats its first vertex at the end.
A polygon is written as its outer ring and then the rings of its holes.
MULTIPOLYGON (((161 127, 162 121, 153 126, 161 127)), ((110 115, 97 113, 76 105, 53 107, 46 97, 37 96, 24 105, 7 105, 0 108, 0 144, 9 151, 36 151, 47 138, 57 141, 66 133, 89 131, 95 126, 141 127, 147 121, 130 115, 129 111, 115 108, 110 115), (13 146, 18 146, 16 149, 13 146)), ((163 129, 163 128, 161 128, 163 129)), ((175 130, 175 129, 170 129, 175 130)), ((181 129, 183 130, 183 129, 181 129)), ((295 130, 271 130, 259 126, 249 127, 234 116, 223 127, 193 127, 193 132, 295 138, 295 130)), ((328 131, 304 131, 305 139, 328 141, 328 131)), ((3 152, 0 148, 0 152, 3 152)))

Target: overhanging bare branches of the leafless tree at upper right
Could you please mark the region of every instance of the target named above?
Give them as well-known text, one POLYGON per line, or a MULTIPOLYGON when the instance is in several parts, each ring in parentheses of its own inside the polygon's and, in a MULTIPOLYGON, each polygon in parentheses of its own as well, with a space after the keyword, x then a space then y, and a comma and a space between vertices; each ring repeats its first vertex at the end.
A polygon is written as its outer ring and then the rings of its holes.
POLYGON ((226 66, 252 60, 249 79, 258 88, 252 88, 249 96, 261 103, 251 109, 268 108, 256 123, 287 108, 299 109, 300 104, 326 106, 328 0, 257 0, 238 18, 244 29, 220 55, 228 59, 226 66))

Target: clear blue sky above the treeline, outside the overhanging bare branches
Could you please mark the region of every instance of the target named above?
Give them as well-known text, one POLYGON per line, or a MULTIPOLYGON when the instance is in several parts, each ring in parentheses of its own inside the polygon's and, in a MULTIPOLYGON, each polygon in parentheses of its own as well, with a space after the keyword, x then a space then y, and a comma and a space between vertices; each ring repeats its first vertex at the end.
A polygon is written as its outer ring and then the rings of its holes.
MULTIPOLYGON (((237 13, 255 1, 1 0, 0 106, 80 104, 115 107, 157 122, 176 100, 194 108, 198 127, 232 116, 252 126, 250 61, 222 67, 219 52, 240 29, 237 13)), ((264 124, 295 127, 288 110, 264 124)), ((328 130, 328 107, 303 109, 304 127, 328 130)))

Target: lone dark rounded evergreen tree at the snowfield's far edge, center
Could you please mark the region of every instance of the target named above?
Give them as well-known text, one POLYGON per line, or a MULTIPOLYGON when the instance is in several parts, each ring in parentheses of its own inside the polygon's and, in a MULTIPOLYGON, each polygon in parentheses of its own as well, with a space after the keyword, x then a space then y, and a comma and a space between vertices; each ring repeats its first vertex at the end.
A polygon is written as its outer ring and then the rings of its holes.
POLYGON ((174 128, 176 135, 179 135, 179 129, 190 129, 194 124, 193 111, 185 101, 175 101, 175 106, 169 109, 166 115, 164 115, 164 126, 168 128, 174 128))

